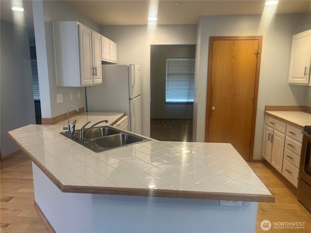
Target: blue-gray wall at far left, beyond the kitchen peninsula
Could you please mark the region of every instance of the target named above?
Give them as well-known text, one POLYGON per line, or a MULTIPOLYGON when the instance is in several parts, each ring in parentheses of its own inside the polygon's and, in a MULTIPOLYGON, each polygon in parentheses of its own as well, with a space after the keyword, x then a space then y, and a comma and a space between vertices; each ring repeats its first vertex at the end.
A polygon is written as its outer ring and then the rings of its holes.
POLYGON ((1 158, 18 147, 7 132, 35 124, 35 103, 27 28, 0 21, 0 146, 1 158))

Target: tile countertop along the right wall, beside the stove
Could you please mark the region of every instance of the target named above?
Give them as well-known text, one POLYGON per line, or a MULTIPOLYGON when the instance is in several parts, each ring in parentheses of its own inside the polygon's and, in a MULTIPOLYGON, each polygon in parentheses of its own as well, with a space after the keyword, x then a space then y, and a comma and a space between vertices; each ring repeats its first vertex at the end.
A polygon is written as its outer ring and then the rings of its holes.
POLYGON ((265 111, 266 115, 285 120, 301 130, 305 125, 311 125, 311 114, 299 111, 265 111))

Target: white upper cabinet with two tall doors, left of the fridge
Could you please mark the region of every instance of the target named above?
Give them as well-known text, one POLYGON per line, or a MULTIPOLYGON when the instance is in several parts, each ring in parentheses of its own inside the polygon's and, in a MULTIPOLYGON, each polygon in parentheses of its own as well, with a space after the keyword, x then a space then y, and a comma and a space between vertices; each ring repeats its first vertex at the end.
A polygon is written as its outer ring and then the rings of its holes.
POLYGON ((102 83, 101 35, 77 21, 52 25, 57 86, 102 83))

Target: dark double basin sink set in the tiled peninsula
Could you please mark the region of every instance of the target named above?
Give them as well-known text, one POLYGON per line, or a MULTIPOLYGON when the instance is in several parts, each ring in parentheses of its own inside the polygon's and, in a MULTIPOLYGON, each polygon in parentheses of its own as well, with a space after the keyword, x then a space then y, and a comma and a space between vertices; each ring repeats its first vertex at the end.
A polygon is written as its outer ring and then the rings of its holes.
POLYGON ((134 133, 123 131, 112 126, 100 126, 85 129, 84 138, 79 138, 79 131, 74 131, 74 135, 70 136, 68 132, 61 132, 60 134, 70 138, 71 140, 79 143, 86 148, 95 152, 111 150, 134 143, 149 141, 145 137, 139 136, 134 133))

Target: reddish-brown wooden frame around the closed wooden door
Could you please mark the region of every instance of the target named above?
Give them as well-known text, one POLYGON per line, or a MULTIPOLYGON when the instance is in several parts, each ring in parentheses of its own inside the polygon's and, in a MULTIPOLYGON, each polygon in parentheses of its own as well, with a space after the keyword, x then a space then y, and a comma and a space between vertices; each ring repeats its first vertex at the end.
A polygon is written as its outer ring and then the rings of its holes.
POLYGON ((254 160, 254 140, 255 140, 255 127, 256 127, 256 114, 257 114, 257 101, 258 101, 258 88, 259 88, 259 73, 260 73, 260 61, 262 51, 262 36, 210 36, 209 37, 209 49, 208 49, 208 68, 207 68, 207 102, 206 102, 206 122, 205 122, 205 142, 208 142, 208 128, 209 128, 209 116, 210 116, 210 92, 211 92, 211 74, 212 74, 212 51, 214 40, 258 40, 258 58, 255 75, 255 88, 254 88, 254 102, 253 102, 253 115, 252 115, 252 127, 251 127, 251 141, 249 151, 249 162, 258 162, 261 160, 254 160))

